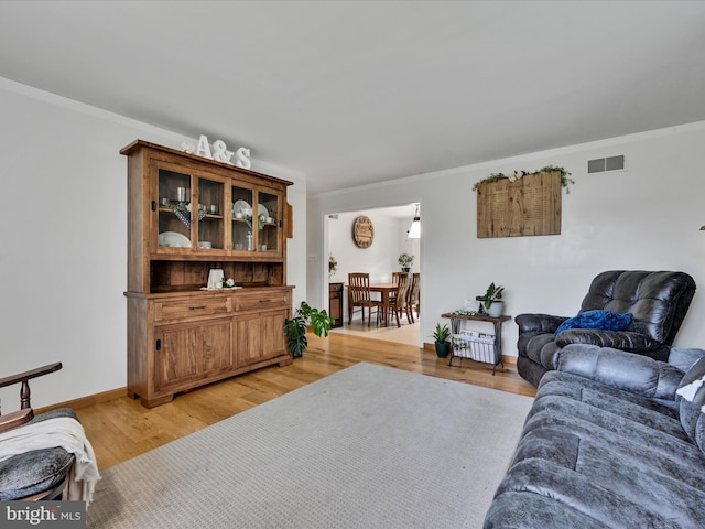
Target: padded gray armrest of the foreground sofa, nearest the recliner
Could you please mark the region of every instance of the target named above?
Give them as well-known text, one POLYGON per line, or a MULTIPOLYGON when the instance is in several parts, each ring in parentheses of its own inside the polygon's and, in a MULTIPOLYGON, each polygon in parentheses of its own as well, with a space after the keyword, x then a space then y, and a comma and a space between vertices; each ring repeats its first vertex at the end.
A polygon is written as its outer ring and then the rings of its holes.
POLYGON ((556 369, 651 399, 675 400, 684 373, 665 361, 610 347, 572 344, 558 352, 556 369))

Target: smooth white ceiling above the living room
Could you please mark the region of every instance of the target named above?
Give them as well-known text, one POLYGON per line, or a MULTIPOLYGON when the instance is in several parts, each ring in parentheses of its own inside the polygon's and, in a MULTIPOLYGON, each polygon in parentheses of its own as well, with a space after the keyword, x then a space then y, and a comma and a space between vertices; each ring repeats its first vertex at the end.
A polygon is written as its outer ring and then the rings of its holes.
POLYGON ((6 0, 0 76, 317 193, 705 120, 705 2, 6 0))

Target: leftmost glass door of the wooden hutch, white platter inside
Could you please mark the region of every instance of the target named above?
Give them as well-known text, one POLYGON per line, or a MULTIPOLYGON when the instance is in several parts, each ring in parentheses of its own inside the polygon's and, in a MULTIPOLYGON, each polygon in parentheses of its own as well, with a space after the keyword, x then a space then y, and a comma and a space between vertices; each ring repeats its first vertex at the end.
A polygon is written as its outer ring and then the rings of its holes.
POLYGON ((159 170, 158 231, 153 248, 192 248, 192 177, 165 168, 159 170))

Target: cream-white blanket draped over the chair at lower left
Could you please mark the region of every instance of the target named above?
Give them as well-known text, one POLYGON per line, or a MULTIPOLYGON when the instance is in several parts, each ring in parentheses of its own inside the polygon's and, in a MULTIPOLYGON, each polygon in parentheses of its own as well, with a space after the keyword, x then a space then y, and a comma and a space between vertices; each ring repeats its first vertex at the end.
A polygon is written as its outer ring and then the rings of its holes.
POLYGON ((84 427, 75 419, 57 417, 1 432, 0 461, 32 450, 57 446, 76 457, 68 476, 67 499, 89 504, 100 474, 84 427))

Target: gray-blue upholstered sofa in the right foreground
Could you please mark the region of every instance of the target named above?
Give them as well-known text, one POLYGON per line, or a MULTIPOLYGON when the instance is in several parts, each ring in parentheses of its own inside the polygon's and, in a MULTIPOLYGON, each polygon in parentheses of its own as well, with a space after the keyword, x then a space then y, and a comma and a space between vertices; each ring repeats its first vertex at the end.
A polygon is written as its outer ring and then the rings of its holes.
POLYGON ((568 345, 556 367, 485 529, 705 527, 705 350, 568 345))

